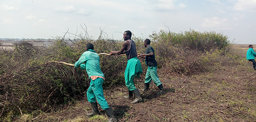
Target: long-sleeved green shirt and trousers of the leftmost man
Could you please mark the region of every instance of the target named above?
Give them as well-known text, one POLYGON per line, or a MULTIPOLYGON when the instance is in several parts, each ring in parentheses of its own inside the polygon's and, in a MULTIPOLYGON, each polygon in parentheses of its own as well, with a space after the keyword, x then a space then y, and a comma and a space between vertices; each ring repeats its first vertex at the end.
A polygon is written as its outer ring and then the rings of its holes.
MULTIPOLYGON (((89 77, 91 76, 100 76, 104 77, 104 74, 100 70, 100 57, 98 54, 95 53, 94 50, 87 50, 85 51, 80 59, 76 61, 74 64, 76 68, 79 66, 82 70, 86 69, 86 72, 89 77), (84 63, 84 64, 83 64, 84 63)), ((90 87, 87 90, 87 100, 90 103, 98 101, 98 104, 100 104, 100 107, 103 110, 106 110, 109 108, 108 102, 105 100, 102 84, 104 82, 103 78, 96 78, 95 80, 91 79, 90 87)))

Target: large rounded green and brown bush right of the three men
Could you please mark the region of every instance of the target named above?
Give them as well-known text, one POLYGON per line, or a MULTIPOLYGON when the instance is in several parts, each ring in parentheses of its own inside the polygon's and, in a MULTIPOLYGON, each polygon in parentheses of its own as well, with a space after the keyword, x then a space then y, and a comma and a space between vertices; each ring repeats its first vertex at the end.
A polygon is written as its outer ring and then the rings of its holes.
POLYGON ((230 50, 228 37, 214 31, 173 33, 161 30, 150 37, 158 66, 168 69, 166 74, 193 75, 208 72, 211 70, 209 66, 213 66, 220 57, 225 57, 230 50))

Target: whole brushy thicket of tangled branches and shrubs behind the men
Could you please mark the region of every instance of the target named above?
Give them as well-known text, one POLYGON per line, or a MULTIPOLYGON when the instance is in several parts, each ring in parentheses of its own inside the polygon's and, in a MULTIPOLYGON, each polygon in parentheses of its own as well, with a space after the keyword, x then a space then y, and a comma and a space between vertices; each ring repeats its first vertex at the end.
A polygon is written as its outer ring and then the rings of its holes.
MULTIPOLYGON (((216 32, 172 33, 161 30, 151 36, 156 52, 158 68, 163 75, 192 75, 209 72, 210 66, 225 65, 230 42, 228 37, 216 32)), ((63 61, 74 64, 85 51, 87 43, 93 43, 97 53, 119 50, 122 42, 113 39, 58 38, 50 46, 35 46, 22 42, 13 50, 0 51, 0 110, 1 118, 13 118, 20 113, 48 110, 55 105, 70 103, 84 94, 89 86, 85 71, 69 65, 54 63, 63 61)), ((145 53, 143 39, 133 38, 138 53, 145 53)), ((230 56, 229 58, 236 58, 230 56)), ((100 66, 106 77, 104 89, 124 85, 126 57, 100 55, 100 66)), ((146 70, 141 59, 143 71, 146 70)), ((142 77, 144 77, 142 75, 142 77)), ((38 113, 32 113, 38 114, 38 113)))

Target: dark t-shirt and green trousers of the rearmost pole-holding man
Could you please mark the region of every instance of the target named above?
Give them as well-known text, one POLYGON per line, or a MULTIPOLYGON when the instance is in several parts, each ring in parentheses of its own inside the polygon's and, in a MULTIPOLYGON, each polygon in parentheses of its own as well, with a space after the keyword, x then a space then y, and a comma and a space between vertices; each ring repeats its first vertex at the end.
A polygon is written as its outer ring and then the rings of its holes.
POLYGON ((156 86, 161 85, 161 81, 158 78, 156 69, 157 69, 157 62, 155 59, 155 51, 154 48, 152 46, 148 46, 147 50, 146 50, 146 54, 149 54, 153 52, 154 55, 152 56, 146 56, 146 65, 148 65, 148 69, 147 69, 147 73, 145 76, 145 83, 151 83, 151 80, 153 80, 153 82, 156 84, 156 86))

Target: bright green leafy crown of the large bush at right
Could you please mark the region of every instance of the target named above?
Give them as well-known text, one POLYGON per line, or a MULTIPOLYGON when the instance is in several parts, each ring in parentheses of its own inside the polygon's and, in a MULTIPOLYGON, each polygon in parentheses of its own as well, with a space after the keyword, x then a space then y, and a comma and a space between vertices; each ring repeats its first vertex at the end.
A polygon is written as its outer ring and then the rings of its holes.
POLYGON ((199 32, 195 30, 173 33, 161 30, 159 33, 150 35, 152 41, 163 43, 167 46, 189 48, 191 50, 209 51, 210 49, 226 49, 230 44, 228 37, 222 33, 199 32))

